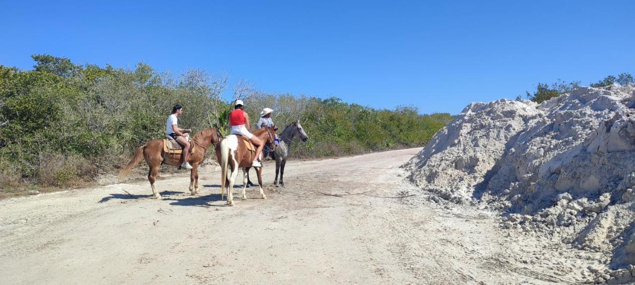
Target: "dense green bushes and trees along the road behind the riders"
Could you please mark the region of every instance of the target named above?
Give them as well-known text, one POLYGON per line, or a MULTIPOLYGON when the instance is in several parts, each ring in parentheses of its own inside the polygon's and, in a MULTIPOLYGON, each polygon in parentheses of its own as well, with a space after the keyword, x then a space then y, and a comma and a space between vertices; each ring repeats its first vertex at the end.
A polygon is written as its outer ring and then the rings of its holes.
MULTIPOLYGON (((227 75, 189 70, 174 78, 145 63, 127 70, 48 54, 32 58, 33 70, 0 65, 0 192, 114 172, 138 146, 164 137, 176 103, 184 106, 180 126, 197 132, 220 125, 227 132, 231 102, 220 97, 227 75)), ((252 124, 265 106, 276 110, 279 127, 300 120, 310 137, 294 146, 293 155, 302 158, 423 146, 452 119, 419 115, 413 106, 375 110, 338 98, 266 94, 244 81, 233 89, 252 124)))

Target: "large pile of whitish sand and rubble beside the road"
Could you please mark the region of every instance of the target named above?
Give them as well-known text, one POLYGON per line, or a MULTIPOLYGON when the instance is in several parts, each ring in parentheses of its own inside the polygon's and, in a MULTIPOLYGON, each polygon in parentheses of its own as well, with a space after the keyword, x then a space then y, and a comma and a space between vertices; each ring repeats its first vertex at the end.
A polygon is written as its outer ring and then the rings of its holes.
POLYGON ((404 167, 441 198, 509 213, 505 227, 605 253, 600 279, 635 281, 632 108, 635 85, 617 84, 540 105, 472 103, 404 167))

